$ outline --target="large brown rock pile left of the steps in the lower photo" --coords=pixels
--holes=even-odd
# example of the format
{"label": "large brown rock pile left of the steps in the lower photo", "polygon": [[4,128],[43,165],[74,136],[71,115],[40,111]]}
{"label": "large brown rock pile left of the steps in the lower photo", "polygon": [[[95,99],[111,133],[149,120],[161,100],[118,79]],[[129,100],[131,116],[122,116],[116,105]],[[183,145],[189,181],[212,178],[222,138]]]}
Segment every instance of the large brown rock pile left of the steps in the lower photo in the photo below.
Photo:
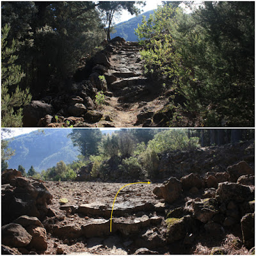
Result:
{"label": "large brown rock pile left of the steps in the lower photo", "polygon": [[46,217],[47,204],[51,203],[49,189],[38,180],[22,177],[17,170],[6,170],[1,178],[2,253],[47,250],[47,233],[40,220]]}

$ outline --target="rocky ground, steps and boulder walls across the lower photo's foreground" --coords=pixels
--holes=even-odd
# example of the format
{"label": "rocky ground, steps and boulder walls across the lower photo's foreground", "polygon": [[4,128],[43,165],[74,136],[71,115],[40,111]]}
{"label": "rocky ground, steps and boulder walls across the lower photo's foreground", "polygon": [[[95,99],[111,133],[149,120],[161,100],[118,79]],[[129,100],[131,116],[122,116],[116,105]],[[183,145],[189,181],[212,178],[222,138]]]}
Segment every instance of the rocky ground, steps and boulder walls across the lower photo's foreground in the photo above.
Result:
{"label": "rocky ground, steps and boulder walls across the lower photo's foreground", "polygon": [[129,182],[43,182],[6,170],[2,253],[254,253],[254,144],[237,145],[239,154],[221,172],[125,186],[116,198],[112,232],[113,199]]}

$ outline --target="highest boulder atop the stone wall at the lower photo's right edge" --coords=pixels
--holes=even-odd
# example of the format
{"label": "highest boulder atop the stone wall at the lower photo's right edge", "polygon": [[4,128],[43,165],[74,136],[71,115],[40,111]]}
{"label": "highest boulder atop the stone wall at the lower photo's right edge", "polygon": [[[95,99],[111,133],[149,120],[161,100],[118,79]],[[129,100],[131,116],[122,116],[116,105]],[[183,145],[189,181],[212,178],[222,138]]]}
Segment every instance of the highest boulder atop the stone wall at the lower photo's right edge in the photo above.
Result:
{"label": "highest boulder atop the stone wall at the lower photo's right edge", "polygon": [[252,168],[245,161],[241,161],[232,166],[228,166],[227,171],[229,173],[230,182],[237,182],[237,179],[242,175],[246,175],[246,174],[254,175]]}

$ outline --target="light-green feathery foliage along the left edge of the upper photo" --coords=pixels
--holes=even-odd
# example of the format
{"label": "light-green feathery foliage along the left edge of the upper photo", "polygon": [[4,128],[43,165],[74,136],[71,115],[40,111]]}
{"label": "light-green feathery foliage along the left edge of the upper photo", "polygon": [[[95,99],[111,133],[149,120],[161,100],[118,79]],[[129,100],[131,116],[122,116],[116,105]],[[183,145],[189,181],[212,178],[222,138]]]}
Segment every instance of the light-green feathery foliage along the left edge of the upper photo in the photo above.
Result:
{"label": "light-green feathery foliage along the left edge of the upper photo", "polygon": [[2,127],[22,127],[22,106],[31,101],[29,90],[21,90],[19,83],[24,77],[21,66],[16,65],[18,56],[13,55],[16,51],[15,40],[7,47],[6,38],[10,31],[10,26],[2,28],[1,37],[1,126]]}

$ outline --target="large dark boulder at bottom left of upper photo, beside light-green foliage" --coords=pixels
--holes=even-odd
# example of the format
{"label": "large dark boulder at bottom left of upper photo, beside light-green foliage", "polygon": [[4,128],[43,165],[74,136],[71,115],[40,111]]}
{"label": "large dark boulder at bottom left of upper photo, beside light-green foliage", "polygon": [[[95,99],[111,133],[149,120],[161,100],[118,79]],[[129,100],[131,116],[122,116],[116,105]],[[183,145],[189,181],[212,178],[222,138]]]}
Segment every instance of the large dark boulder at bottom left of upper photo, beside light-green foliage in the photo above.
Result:
{"label": "large dark boulder at bottom left of upper photo, beside light-green foliage", "polygon": [[23,126],[36,127],[40,118],[47,114],[52,114],[51,104],[41,102],[40,100],[32,100],[30,104],[23,108]]}

